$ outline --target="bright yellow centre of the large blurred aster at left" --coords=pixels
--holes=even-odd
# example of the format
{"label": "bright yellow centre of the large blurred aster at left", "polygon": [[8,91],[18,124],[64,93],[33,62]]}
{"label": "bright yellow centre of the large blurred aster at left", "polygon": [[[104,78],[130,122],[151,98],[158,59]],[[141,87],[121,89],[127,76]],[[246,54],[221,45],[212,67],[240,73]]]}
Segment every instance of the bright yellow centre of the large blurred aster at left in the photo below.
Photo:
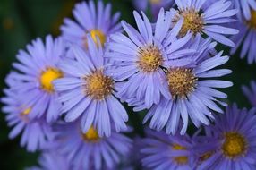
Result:
{"label": "bright yellow centre of the large blurred aster at left", "polygon": [[53,81],[56,79],[62,78],[63,72],[54,67],[47,68],[46,71],[41,72],[40,76],[40,85],[41,89],[44,89],[48,93],[55,91]]}

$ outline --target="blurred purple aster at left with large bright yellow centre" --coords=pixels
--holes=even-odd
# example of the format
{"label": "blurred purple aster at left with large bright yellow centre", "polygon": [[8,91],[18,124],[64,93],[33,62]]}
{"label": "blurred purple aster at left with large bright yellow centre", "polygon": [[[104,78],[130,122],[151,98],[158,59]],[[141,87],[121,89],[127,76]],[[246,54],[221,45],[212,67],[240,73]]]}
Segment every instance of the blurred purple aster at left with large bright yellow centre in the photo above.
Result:
{"label": "blurred purple aster at left with large bright yellow centre", "polygon": [[59,117],[60,103],[57,101],[53,81],[63,76],[56,64],[65,55],[65,46],[61,38],[47,36],[46,44],[38,38],[27,46],[28,52],[21,50],[17,55],[19,63],[13,67],[19,71],[13,75],[19,80],[13,89],[25,94],[24,105],[31,108],[30,115],[46,115],[47,122]]}

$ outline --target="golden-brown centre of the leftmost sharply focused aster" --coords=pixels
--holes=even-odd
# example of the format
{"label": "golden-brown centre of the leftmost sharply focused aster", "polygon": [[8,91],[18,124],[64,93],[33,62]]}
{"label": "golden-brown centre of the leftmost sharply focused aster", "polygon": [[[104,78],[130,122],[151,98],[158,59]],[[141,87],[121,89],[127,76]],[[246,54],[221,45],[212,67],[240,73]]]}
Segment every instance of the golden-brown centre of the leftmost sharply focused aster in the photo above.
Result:
{"label": "golden-brown centre of the leftmost sharply focused aster", "polygon": [[110,95],[113,91],[113,80],[111,77],[104,75],[102,70],[92,72],[85,78],[85,93],[91,98],[102,100]]}

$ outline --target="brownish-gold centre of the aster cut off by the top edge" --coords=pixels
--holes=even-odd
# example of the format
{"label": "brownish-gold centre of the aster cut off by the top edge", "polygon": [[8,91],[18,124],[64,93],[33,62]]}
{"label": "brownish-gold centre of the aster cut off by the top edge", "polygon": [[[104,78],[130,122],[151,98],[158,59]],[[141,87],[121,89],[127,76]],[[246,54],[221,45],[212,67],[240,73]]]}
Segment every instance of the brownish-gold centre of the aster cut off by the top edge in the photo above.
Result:
{"label": "brownish-gold centre of the aster cut off by the top edge", "polygon": [[[179,15],[183,17],[183,27],[180,30],[180,35],[184,36],[189,30],[193,35],[201,33],[204,25],[201,14],[195,9],[183,9],[179,12]],[[180,16],[175,16],[173,22],[176,23],[180,20]]]}

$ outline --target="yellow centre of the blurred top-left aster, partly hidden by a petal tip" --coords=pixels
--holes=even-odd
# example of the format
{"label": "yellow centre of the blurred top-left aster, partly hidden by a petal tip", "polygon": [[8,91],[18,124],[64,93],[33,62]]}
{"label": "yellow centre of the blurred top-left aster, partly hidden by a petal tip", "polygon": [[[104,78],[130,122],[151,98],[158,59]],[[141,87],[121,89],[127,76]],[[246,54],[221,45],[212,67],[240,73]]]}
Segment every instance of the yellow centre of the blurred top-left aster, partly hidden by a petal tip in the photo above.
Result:
{"label": "yellow centre of the blurred top-left aster, partly hidden by a petal tip", "polygon": [[[90,33],[90,36],[91,36],[92,40],[94,41],[94,43],[97,46],[99,46],[97,38],[99,39],[99,43],[100,43],[101,46],[103,46],[105,44],[106,36],[101,30],[90,30],[89,33]],[[84,46],[86,48],[88,48],[88,42],[87,42],[86,36],[83,38],[83,43],[84,43]]]}

